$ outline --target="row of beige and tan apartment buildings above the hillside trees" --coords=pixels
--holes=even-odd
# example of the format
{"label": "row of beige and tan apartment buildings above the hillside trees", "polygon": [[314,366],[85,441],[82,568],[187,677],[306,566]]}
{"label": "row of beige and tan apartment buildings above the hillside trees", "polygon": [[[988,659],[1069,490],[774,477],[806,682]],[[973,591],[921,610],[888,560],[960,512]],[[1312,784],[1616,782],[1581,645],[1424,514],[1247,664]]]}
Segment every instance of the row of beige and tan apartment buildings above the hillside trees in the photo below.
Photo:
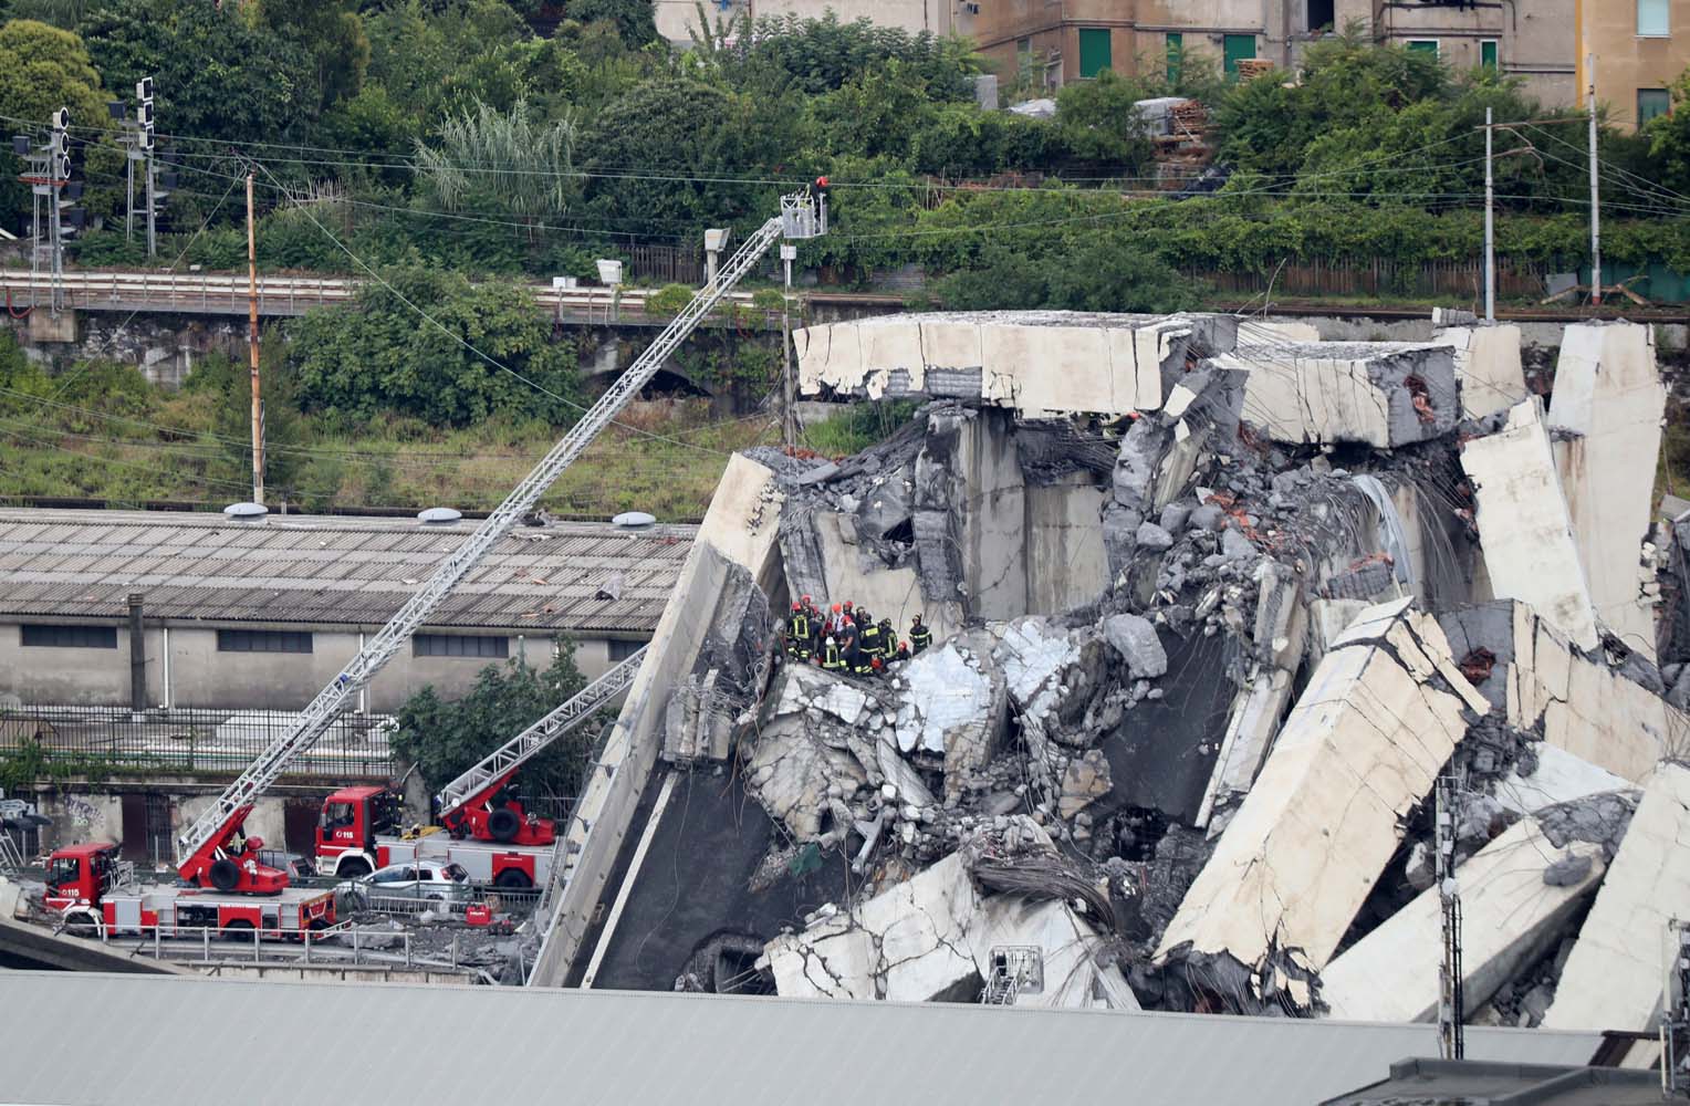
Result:
{"label": "row of beige and tan apartment buildings above the hillside trees", "polygon": [[[958,34],[999,78],[1026,73],[1056,88],[1102,69],[1169,71],[1207,56],[1225,73],[1246,59],[1293,68],[1313,41],[1360,24],[1381,42],[1436,54],[1455,69],[1492,66],[1546,105],[1582,103],[1587,57],[1597,95],[1621,125],[1668,110],[1690,64],[1690,0],[710,0],[710,19],[833,10],[845,22]],[[656,0],[676,42],[696,25],[695,0]]]}

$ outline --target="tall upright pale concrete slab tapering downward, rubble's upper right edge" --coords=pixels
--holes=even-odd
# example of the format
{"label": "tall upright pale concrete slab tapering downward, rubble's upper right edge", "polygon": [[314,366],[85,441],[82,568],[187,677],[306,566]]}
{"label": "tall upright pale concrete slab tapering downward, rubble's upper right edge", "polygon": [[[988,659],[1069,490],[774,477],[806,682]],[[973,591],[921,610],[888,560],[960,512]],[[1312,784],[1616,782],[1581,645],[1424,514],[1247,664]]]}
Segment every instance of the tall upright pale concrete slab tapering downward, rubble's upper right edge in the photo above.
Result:
{"label": "tall upright pale concrete slab tapering downward, rubble's upper right edge", "polygon": [[1653,602],[1641,546],[1655,504],[1666,387],[1655,331],[1638,323],[1577,323],[1562,335],[1548,424],[1573,538],[1597,617],[1655,660]]}

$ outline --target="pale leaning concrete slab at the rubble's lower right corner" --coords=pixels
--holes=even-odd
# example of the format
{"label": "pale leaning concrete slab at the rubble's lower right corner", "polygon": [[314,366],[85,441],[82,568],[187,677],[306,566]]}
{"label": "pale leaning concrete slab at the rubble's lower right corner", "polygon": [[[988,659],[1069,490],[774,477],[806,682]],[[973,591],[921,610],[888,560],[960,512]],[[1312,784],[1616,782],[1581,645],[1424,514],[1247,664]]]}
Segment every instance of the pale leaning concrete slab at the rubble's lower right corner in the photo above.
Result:
{"label": "pale leaning concrete slab at the rubble's lower right corner", "polygon": [[1663,763],[1567,957],[1551,1030],[1648,1032],[1661,1011],[1668,930],[1690,917],[1690,769]]}

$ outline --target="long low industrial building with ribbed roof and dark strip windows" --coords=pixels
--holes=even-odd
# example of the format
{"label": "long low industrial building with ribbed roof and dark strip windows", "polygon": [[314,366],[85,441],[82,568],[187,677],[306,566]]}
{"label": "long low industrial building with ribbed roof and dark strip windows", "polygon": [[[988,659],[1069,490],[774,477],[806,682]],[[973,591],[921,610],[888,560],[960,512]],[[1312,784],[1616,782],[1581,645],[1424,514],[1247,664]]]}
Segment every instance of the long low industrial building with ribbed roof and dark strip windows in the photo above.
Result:
{"label": "long low industrial building with ribbed roof and dark strip windows", "polygon": [[[0,695],[22,705],[297,710],[473,523],[0,511]],[[390,714],[576,641],[593,678],[651,638],[691,526],[522,526],[360,692]],[[130,597],[142,626],[132,654]],[[139,663],[132,663],[137,661]]]}

